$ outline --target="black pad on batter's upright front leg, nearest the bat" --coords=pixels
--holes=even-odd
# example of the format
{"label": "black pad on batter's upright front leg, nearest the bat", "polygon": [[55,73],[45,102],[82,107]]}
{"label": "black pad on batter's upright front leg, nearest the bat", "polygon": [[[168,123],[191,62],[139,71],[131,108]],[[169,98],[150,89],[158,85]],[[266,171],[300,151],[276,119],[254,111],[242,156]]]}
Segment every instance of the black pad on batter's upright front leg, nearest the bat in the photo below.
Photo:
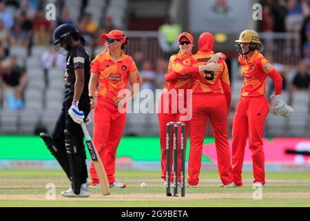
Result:
{"label": "black pad on batter's upright front leg, nearest the bat", "polygon": [[82,173],[83,167],[85,167],[85,162],[79,153],[79,144],[76,141],[76,138],[68,130],[64,131],[65,133],[65,149],[67,151],[68,160],[70,164],[70,173],[71,173],[71,183],[72,190],[75,194],[80,193],[81,184],[82,184]]}

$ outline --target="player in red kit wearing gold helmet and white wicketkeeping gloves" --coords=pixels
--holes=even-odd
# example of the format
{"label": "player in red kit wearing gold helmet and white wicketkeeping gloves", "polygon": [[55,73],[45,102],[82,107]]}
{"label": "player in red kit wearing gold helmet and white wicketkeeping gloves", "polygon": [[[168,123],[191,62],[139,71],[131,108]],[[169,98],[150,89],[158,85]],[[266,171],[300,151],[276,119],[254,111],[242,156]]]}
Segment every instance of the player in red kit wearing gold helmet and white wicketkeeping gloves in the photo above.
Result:
{"label": "player in red kit wearing gold helmet and white wicketkeeping gloves", "polygon": [[240,90],[240,99],[236,107],[232,129],[232,174],[236,186],[242,186],[242,164],[245,155],[245,143],[249,135],[254,173],[254,188],[265,184],[265,155],[262,148],[264,124],[269,112],[269,103],[265,96],[267,76],[274,83],[275,94],[271,95],[273,109],[271,113],[291,117],[293,109],[281,99],[282,77],[260,53],[262,44],[254,30],[244,30],[236,42],[239,43],[238,61],[244,77]]}

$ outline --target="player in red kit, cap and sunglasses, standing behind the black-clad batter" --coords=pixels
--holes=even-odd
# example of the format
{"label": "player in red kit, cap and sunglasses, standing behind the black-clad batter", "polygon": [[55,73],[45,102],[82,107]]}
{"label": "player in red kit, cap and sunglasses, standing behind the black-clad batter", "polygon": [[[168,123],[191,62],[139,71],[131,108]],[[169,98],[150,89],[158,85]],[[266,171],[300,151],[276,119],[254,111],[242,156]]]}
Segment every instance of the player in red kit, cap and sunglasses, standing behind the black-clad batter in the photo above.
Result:
{"label": "player in red kit, cap and sunglasses, standing behind the black-clad batter", "polygon": [[[127,37],[121,30],[112,30],[102,35],[107,41],[107,52],[97,55],[90,65],[90,99],[94,108],[94,146],[105,166],[110,188],[125,188],[126,185],[115,180],[116,149],[125,127],[126,113],[120,112],[126,97],[118,97],[118,92],[127,88],[134,95],[134,84],[140,84],[141,75],[131,56],[125,55],[123,48]],[[94,93],[99,81],[99,88],[94,104]],[[93,164],[90,165],[92,188],[98,188],[99,180]]]}

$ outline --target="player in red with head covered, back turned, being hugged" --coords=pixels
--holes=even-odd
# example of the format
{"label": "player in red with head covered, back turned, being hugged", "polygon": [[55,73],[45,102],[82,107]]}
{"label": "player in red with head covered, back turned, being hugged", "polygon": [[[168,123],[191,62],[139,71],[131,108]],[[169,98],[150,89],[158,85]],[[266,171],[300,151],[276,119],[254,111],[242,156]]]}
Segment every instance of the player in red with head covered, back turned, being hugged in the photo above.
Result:
{"label": "player in red with head covered, back turned, being hugged", "polygon": [[[200,35],[198,39],[198,52],[193,55],[200,66],[209,61],[214,55],[214,36],[209,32]],[[227,115],[231,102],[229,74],[225,61],[218,60],[220,70],[200,72],[193,75],[193,117],[190,121],[190,151],[189,151],[189,178],[190,187],[196,187],[199,182],[201,158],[203,155],[203,140],[205,126],[209,118],[214,133],[216,152],[218,158],[218,171],[223,184],[220,187],[234,187],[231,176],[231,159],[227,137]]]}

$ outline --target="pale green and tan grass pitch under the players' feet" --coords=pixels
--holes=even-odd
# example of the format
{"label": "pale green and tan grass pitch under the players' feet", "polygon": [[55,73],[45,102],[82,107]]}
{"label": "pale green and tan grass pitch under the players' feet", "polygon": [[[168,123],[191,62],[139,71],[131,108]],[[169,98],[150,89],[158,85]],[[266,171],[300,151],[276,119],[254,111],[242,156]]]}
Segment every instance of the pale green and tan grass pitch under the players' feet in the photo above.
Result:
{"label": "pale green and tan grass pitch under the players' feet", "polygon": [[[218,173],[203,172],[197,189],[186,189],[185,198],[166,197],[159,171],[116,171],[125,189],[111,189],[103,197],[90,189],[90,198],[63,198],[68,189],[63,171],[0,170],[0,206],[310,206],[309,173],[267,173],[262,200],[254,200],[251,173],[244,173],[244,186],[220,189]],[[141,182],[147,188],[141,189]],[[56,200],[46,200],[46,184],[56,186]],[[179,189],[180,193],[180,189]]]}

